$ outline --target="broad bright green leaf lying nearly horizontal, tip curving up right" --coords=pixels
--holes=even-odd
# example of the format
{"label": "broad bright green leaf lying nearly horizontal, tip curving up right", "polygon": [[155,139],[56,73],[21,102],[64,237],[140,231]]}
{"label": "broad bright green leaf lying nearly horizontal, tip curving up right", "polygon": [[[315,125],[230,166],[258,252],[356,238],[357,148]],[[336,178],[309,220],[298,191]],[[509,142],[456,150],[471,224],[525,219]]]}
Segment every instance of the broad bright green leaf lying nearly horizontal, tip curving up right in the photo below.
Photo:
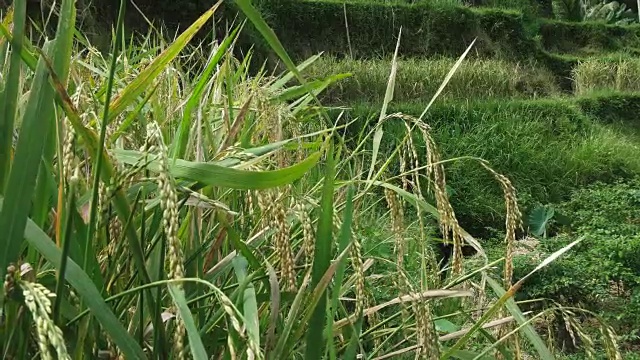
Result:
{"label": "broad bright green leaf lying nearly horizontal, tip curving up right", "polygon": [[[133,150],[114,150],[113,154],[119,162],[129,165],[138,164],[144,158],[141,152]],[[197,181],[208,186],[230,189],[268,189],[300,179],[316,165],[319,159],[320,153],[314,153],[298,164],[270,171],[238,170],[212,163],[176,159],[169,164],[169,172],[178,179]],[[159,161],[157,159],[148,161],[147,169],[159,171]]]}

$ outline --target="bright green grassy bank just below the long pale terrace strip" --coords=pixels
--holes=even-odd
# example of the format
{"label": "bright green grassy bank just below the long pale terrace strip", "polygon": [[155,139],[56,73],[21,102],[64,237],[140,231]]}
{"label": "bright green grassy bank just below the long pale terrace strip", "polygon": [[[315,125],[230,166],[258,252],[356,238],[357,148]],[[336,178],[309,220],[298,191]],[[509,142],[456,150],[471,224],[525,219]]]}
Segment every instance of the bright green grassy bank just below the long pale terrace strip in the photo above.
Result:
{"label": "bright green grassy bank just below the long pale terrace strip", "polygon": [[[640,104],[635,98],[627,100]],[[620,101],[618,97],[594,97],[575,104],[558,100],[442,103],[429,110],[425,121],[433,127],[445,158],[485,159],[509,174],[522,205],[528,207],[560,201],[593,181],[640,172],[640,157],[636,156],[640,137],[602,125],[615,116],[610,114],[616,106],[628,108]],[[391,106],[388,112],[417,117],[422,110],[420,105],[407,104]],[[344,111],[343,119],[367,119],[376,112],[375,106],[359,105]],[[364,122],[356,123],[354,129],[359,131],[362,126]],[[389,123],[387,127],[402,139],[403,126]],[[416,144],[418,157],[425,156],[420,140]],[[395,146],[389,141],[382,148],[390,153]],[[491,175],[473,161],[451,162],[446,167],[452,203],[465,228],[476,234],[487,227],[501,228],[502,190]]]}

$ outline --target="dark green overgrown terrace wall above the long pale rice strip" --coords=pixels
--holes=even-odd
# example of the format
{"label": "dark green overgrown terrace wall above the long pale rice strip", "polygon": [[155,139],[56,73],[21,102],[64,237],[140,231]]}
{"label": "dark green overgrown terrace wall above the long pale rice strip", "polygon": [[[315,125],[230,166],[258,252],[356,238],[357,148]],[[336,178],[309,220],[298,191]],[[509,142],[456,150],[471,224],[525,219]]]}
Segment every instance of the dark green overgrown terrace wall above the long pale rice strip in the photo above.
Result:
{"label": "dark green overgrown terrace wall above the long pale rice strip", "polygon": [[[414,5],[283,0],[264,5],[270,25],[297,59],[324,51],[356,58],[393,53],[459,56],[474,38],[474,54],[526,57],[535,48],[524,15],[430,3]],[[347,23],[345,24],[345,11]],[[347,34],[349,40],[347,40]]]}

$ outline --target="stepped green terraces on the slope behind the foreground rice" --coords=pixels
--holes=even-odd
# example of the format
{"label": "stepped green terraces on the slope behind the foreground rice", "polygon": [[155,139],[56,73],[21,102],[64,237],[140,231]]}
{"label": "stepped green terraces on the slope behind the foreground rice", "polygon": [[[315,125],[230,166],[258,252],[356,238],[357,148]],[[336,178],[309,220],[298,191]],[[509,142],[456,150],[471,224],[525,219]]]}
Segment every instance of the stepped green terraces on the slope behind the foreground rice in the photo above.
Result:
{"label": "stepped green terraces on the slope behind the foreground rice", "polygon": [[[379,116],[396,45],[387,113],[413,116],[469,48],[426,122],[444,156],[488,160],[513,180],[525,206],[640,172],[640,25],[558,20],[562,9],[536,1],[305,0],[260,9],[294,61],[322,54],[307,77],[350,75],[321,100],[359,119],[356,132]],[[388,126],[393,132],[397,124]],[[502,192],[490,175],[464,161],[448,170],[464,225],[501,226]]]}

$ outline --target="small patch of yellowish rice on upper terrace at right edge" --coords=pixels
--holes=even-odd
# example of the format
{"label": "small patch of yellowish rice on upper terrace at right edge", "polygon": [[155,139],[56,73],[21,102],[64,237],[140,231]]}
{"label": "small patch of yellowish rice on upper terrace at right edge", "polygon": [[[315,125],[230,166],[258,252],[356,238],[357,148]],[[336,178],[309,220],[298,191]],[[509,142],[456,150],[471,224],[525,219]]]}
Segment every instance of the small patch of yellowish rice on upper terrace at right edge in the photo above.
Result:
{"label": "small patch of yellowish rice on upper terrace at right edge", "polygon": [[594,92],[640,91],[640,61],[633,58],[600,60],[592,58],[581,61],[573,69],[576,95]]}

